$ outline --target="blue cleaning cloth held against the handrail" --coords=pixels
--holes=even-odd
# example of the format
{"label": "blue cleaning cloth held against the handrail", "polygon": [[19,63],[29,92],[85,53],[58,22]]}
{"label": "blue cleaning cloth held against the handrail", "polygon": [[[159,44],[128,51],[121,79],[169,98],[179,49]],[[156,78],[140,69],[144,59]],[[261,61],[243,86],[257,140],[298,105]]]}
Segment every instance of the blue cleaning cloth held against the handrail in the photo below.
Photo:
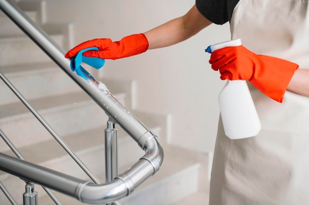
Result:
{"label": "blue cleaning cloth held against the handrail", "polygon": [[90,48],[85,48],[80,50],[76,56],[74,56],[71,59],[71,70],[72,71],[76,71],[77,75],[79,75],[80,77],[84,78],[85,80],[88,80],[89,77],[92,78],[94,80],[94,78],[92,77],[92,75],[87,72],[87,70],[85,70],[85,68],[82,68],[82,66],[80,66],[80,64],[82,62],[88,64],[89,66],[99,69],[102,68],[105,64],[105,60],[101,59],[101,58],[97,58],[97,57],[86,57],[83,56],[83,52],[85,51],[89,51],[89,50],[96,50],[98,51],[99,48],[98,47],[90,47]]}

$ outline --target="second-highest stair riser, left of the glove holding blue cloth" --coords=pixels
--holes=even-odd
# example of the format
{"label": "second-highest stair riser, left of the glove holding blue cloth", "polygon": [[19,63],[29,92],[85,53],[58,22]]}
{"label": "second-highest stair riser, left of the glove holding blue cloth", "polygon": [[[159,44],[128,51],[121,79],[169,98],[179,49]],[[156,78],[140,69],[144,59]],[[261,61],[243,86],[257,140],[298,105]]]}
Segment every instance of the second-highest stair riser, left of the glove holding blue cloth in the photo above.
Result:
{"label": "second-highest stair riser, left of the glove holding blue cloth", "polygon": [[[61,47],[63,35],[50,35]],[[50,58],[28,36],[0,38],[0,67],[51,62]]]}

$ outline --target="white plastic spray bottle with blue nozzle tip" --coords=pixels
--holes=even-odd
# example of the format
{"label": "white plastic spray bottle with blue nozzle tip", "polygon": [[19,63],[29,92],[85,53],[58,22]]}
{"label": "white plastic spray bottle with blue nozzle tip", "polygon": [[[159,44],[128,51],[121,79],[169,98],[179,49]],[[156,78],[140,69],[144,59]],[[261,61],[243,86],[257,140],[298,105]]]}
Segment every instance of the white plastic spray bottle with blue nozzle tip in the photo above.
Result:
{"label": "white plastic spray bottle with blue nozzle tip", "polygon": [[[239,46],[235,39],[209,46],[211,53],[227,46]],[[245,80],[227,80],[219,94],[219,106],[224,132],[231,139],[254,137],[261,130],[261,123]]]}

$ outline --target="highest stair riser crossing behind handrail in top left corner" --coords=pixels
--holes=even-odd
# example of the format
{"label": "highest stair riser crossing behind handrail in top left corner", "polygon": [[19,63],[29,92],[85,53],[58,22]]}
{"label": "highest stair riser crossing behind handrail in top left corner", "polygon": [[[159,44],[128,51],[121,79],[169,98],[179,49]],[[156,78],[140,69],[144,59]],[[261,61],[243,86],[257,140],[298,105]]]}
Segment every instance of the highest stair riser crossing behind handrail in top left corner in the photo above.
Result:
{"label": "highest stair riser crossing behind handrail in top left corner", "polygon": [[[25,11],[26,15],[29,16],[34,22],[37,22],[37,12],[36,11]],[[9,36],[20,36],[24,32],[16,26],[11,19],[9,19],[6,14],[0,11],[0,37],[9,37]]]}

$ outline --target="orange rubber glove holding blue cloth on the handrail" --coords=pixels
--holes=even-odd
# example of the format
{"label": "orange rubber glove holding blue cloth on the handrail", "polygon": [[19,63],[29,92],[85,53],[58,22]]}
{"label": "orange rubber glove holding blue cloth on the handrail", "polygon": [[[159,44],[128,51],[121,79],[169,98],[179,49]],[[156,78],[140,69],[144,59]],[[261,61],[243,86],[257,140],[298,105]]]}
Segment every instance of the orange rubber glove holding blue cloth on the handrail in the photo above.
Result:
{"label": "orange rubber glove holding blue cloth on the handrail", "polygon": [[148,40],[144,34],[129,35],[115,42],[110,38],[97,38],[80,43],[68,51],[65,57],[72,58],[84,48],[98,47],[99,51],[86,51],[83,55],[115,60],[143,53],[148,49],[148,46]]}

